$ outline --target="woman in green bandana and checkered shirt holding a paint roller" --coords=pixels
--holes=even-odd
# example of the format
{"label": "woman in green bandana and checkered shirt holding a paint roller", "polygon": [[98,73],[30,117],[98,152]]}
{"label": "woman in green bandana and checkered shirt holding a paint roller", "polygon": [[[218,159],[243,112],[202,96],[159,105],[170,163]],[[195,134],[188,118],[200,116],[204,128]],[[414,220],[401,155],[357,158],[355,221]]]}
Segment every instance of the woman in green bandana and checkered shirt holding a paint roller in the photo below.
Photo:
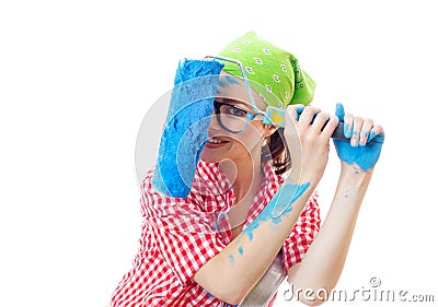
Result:
{"label": "woman in green bandana and checkered shirt holding a paint roller", "polygon": [[[344,116],[341,105],[336,116],[306,106],[313,81],[292,55],[253,32],[220,56],[240,60],[251,84],[261,86],[252,86],[249,99],[245,83],[232,78],[240,76],[239,69],[226,64],[187,198],[155,191],[152,170],[145,177],[140,248],[112,306],[237,305],[279,251],[295,290],[330,292],[341,275],[380,154],[382,127]],[[278,103],[287,110],[285,128],[264,125],[253,104],[265,110]],[[320,229],[314,191],[339,120],[351,139],[335,141],[341,175]],[[322,303],[315,295],[299,299]]]}

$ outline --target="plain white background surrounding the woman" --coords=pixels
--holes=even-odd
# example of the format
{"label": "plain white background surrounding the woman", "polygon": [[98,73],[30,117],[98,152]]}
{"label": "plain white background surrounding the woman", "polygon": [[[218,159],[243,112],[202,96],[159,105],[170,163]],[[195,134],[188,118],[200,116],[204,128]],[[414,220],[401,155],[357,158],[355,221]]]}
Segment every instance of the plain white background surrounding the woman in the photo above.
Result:
{"label": "plain white background surrounding the woman", "polygon": [[[342,102],[385,128],[337,288],[369,288],[377,276],[382,290],[437,300],[433,3],[2,1],[0,305],[108,302],[140,234],[142,118],[171,88],[178,59],[215,54],[250,29],[299,58],[318,83],[314,105],[333,111]],[[323,214],[333,154],[319,189]]]}

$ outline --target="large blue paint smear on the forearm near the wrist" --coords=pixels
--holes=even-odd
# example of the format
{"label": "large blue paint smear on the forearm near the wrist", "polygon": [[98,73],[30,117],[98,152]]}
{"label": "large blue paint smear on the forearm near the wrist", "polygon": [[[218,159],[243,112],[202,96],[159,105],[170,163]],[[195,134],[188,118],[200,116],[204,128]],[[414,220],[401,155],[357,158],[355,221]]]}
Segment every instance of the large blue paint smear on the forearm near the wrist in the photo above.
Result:
{"label": "large blue paint smear on the forearm near the wrist", "polygon": [[258,228],[263,222],[278,224],[283,216],[292,211],[292,203],[310,187],[310,182],[303,185],[286,184],[268,202],[262,213],[242,231],[242,236],[247,235],[250,241],[253,239],[253,232]]}

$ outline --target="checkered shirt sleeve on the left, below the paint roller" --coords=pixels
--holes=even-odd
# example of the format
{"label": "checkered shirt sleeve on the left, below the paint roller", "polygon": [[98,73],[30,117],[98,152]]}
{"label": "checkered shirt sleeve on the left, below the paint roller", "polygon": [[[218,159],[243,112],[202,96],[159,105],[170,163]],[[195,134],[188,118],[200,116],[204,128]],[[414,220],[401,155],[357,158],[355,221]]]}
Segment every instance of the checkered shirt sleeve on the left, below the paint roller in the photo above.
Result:
{"label": "checkered shirt sleeve on the left, below the paint roller", "polygon": [[208,197],[191,192],[186,199],[170,198],[152,188],[146,177],[140,199],[148,232],[146,245],[153,245],[181,286],[224,247],[215,228],[216,216],[204,210]]}

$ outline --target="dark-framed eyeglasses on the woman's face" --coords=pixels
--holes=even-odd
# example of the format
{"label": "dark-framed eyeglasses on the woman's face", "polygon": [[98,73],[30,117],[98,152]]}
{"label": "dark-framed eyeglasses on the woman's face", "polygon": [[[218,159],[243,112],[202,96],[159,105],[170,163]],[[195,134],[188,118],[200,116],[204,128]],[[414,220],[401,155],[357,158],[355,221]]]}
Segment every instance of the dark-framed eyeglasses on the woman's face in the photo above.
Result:
{"label": "dark-framed eyeglasses on the woman's face", "polygon": [[[224,130],[231,133],[240,134],[246,130],[247,125],[257,115],[229,103],[214,102],[217,120]],[[262,115],[263,116],[263,115]]]}

